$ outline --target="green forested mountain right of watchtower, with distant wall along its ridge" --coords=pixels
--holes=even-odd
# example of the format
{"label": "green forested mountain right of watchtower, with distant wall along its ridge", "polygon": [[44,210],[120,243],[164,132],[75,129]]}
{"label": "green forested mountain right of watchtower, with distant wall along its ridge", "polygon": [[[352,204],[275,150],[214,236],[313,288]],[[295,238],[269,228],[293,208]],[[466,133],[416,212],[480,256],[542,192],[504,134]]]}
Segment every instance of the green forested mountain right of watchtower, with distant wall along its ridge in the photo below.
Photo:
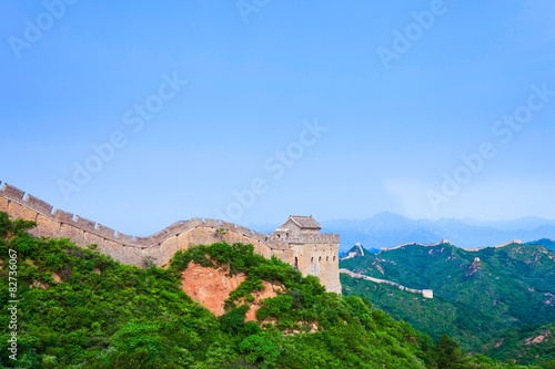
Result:
{"label": "green forested mountain right of watchtower, with distant wall along its ridge", "polygon": [[[355,248],[353,248],[353,252]],[[369,298],[396,319],[438,337],[448,334],[467,349],[506,329],[555,321],[555,253],[511,244],[477,252],[451,244],[407,245],[340,262],[341,268],[433,289],[434,298],[341,275],[346,296]]]}

